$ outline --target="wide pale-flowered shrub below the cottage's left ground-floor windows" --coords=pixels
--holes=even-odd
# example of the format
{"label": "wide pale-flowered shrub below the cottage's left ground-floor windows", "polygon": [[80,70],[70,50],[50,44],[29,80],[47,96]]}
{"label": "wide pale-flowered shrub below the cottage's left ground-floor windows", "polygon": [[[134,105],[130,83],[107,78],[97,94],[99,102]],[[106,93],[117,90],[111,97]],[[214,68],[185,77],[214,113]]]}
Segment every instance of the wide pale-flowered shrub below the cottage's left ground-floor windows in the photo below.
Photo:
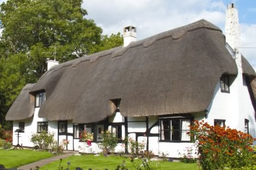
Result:
{"label": "wide pale-flowered shrub below the cottage's left ground-floor windows", "polygon": [[42,132],[42,133],[35,133],[32,134],[32,137],[30,141],[35,145],[38,146],[40,150],[47,150],[50,148],[50,146],[54,146],[54,134],[53,133],[47,133],[47,132]]}

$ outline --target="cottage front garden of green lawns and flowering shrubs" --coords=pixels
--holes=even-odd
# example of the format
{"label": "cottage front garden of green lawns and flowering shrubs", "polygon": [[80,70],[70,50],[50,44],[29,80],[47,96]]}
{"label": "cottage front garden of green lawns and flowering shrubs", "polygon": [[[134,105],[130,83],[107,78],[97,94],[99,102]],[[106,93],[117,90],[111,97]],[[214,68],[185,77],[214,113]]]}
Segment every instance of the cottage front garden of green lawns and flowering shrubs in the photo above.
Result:
{"label": "cottage front garden of green lawns and flowering shrubs", "polygon": [[[113,151],[118,138],[105,131],[100,143],[102,154],[86,154],[84,150],[84,153],[53,161],[37,169],[256,169],[256,148],[252,148],[255,139],[249,134],[195,121],[190,127],[190,136],[197,148],[196,159],[191,156],[190,149],[187,154],[182,155],[180,161],[173,161],[164,155],[156,158],[151,151],[144,150],[145,143],[138,143],[132,138],[125,141],[128,143],[129,154],[116,154]],[[0,164],[4,164],[6,168],[62,154],[69,143],[63,140],[61,145],[57,145],[53,140],[53,133],[35,133],[31,137],[34,149],[13,150],[12,136],[1,133],[1,137],[6,138],[0,139]],[[84,147],[91,147],[92,133],[81,132],[80,140],[84,142]]]}

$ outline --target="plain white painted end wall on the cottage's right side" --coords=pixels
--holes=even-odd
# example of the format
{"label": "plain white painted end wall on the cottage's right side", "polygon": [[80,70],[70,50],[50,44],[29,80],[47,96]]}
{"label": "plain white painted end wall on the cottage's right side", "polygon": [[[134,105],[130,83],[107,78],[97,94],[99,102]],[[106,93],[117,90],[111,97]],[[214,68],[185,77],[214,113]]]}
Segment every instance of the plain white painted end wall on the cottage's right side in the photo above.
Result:
{"label": "plain white painted end wall on the cottage's right side", "polygon": [[237,62],[238,75],[231,77],[230,93],[221,93],[220,83],[217,83],[213,99],[207,109],[206,121],[213,125],[214,119],[224,119],[226,126],[244,132],[244,119],[248,119],[249,133],[256,138],[255,110],[242,75],[241,54],[237,52],[234,57]]}

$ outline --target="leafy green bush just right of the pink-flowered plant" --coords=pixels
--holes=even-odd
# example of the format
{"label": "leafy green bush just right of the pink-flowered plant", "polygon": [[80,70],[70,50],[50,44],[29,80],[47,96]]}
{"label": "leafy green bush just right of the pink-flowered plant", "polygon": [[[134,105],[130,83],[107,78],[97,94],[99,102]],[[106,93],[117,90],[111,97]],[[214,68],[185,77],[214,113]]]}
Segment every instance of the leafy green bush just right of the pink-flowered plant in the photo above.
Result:
{"label": "leafy green bush just right of the pink-flowered plant", "polygon": [[[110,131],[105,131],[102,136],[102,143],[100,143],[100,148],[103,152],[115,151],[115,147],[118,145],[118,138],[114,136]],[[106,153],[107,154],[107,153]]]}

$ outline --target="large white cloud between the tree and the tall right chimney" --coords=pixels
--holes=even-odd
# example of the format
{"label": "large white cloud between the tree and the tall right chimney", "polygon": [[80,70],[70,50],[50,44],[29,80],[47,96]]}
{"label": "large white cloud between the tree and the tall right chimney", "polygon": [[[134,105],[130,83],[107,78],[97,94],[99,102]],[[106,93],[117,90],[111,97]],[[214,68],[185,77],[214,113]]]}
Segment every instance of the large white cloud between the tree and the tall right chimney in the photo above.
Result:
{"label": "large white cloud between the tree and the tall right chimney", "polygon": [[199,19],[223,27],[224,6],[221,1],[212,0],[85,0],[83,4],[89,13],[87,18],[94,19],[105,34],[122,32],[123,27],[132,24],[137,27],[138,39]]}

